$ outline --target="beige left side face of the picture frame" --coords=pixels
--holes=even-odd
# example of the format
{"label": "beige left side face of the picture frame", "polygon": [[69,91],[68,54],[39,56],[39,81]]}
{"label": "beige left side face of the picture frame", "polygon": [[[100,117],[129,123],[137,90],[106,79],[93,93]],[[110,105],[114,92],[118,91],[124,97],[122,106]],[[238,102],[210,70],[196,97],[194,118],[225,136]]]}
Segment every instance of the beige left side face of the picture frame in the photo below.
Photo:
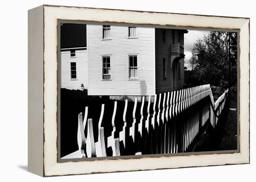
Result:
{"label": "beige left side face of the picture frame", "polygon": [[[44,6],[28,10],[28,120],[27,170],[44,176],[43,169],[43,37]],[[36,25],[36,26],[34,26]],[[37,45],[37,46],[34,46]],[[39,88],[39,89],[38,89]]]}

